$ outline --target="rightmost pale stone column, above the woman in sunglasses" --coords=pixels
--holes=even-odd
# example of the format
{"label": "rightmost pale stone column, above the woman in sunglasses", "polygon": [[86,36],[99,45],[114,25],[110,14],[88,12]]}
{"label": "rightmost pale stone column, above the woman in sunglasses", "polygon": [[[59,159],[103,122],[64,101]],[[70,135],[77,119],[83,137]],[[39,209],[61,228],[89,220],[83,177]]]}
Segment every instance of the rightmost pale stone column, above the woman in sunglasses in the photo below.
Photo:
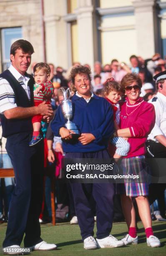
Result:
{"label": "rightmost pale stone column, above the woman in sunglasses", "polygon": [[151,57],[158,50],[156,36],[157,12],[156,0],[133,0],[136,33],[138,44],[138,55],[145,59]]}

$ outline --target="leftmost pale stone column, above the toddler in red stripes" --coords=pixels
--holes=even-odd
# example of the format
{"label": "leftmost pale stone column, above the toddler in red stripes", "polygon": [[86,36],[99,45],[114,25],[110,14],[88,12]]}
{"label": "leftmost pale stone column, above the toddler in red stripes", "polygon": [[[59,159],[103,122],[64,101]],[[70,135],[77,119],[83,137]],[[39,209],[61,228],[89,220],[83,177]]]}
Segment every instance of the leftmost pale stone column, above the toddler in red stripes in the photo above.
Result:
{"label": "leftmost pale stone column, above the toddler in red stripes", "polygon": [[44,0],[46,60],[55,66],[68,67],[66,0]]}

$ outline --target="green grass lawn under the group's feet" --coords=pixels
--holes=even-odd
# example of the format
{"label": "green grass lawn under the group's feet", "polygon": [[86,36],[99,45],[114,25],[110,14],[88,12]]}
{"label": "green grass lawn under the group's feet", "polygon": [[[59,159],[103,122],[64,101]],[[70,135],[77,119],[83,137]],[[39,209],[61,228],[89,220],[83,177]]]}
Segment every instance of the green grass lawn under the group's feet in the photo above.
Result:
{"label": "green grass lawn under the group's feet", "polygon": [[[0,225],[0,246],[5,236],[6,223]],[[34,256],[52,256],[52,255],[110,255],[110,256],[166,256],[166,223],[153,221],[154,235],[161,241],[160,248],[151,248],[146,244],[146,237],[141,222],[138,222],[138,245],[129,245],[120,248],[102,248],[97,250],[83,249],[83,243],[80,237],[78,225],[62,223],[52,226],[51,224],[41,225],[41,237],[49,243],[56,243],[56,251],[33,251]],[[126,223],[113,223],[111,234],[118,240],[126,234]],[[96,232],[96,225],[95,230]],[[21,245],[23,246],[23,244]]]}

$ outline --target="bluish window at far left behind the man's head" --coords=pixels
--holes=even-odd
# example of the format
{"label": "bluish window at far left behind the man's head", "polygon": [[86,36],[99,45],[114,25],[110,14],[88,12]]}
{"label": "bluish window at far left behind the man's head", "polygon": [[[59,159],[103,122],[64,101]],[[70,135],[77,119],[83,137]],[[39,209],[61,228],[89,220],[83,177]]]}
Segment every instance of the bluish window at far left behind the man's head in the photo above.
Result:
{"label": "bluish window at far left behind the man's head", "polygon": [[2,70],[10,66],[10,46],[18,39],[22,38],[22,28],[2,28],[1,29],[1,59]]}

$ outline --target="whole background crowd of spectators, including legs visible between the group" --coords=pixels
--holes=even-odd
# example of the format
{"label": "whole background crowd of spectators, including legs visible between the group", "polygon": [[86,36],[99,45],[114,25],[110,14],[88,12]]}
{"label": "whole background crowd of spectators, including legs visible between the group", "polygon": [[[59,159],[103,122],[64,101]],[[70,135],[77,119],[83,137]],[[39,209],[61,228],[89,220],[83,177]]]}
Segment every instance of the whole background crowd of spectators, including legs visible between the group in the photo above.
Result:
{"label": "whole background crowd of spectators, including legs visible between the group", "polygon": [[[141,97],[144,98],[145,101],[150,100],[156,95],[156,87],[155,82],[153,81],[153,76],[166,70],[166,60],[161,58],[161,55],[156,53],[150,59],[143,59],[141,56],[131,55],[129,58],[130,65],[120,62],[117,59],[112,59],[110,63],[102,64],[99,61],[94,63],[94,67],[90,67],[89,64],[85,64],[84,66],[88,67],[92,70],[91,74],[91,90],[94,94],[103,97],[103,84],[106,82],[108,78],[113,77],[116,82],[121,82],[123,77],[127,73],[137,73],[142,81],[141,88]],[[35,66],[36,62],[32,64],[32,69]],[[81,63],[82,64],[82,63]],[[63,100],[63,96],[60,92],[60,87],[70,88],[72,95],[75,93],[75,87],[70,81],[70,71],[73,67],[80,65],[79,62],[73,63],[73,66],[68,70],[64,70],[63,67],[55,67],[52,63],[49,64],[51,73],[49,80],[53,83],[54,92],[52,97],[51,105],[53,110],[58,108],[58,105]],[[32,73],[33,74],[33,73]],[[47,125],[46,125],[47,126]],[[48,130],[48,133],[47,133]],[[53,137],[52,132],[49,127],[45,127],[43,124],[43,133],[45,134],[45,159],[47,159],[45,164],[45,169],[52,169],[55,171],[56,177],[56,202],[57,202],[57,211],[56,218],[57,222],[63,222],[67,220],[71,220],[71,224],[78,223],[77,218],[75,216],[75,209],[73,206],[73,198],[72,193],[70,191],[70,187],[62,184],[60,182],[60,159],[63,158],[64,153],[61,146],[61,140],[58,137]],[[50,144],[51,143],[51,144]],[[50,147],[51,145],[51,147]],[[51,149],[51,150],[50,150]],[[50,207],[50,180],[49,175],[46,171],[46,179],[45,179],[45,197],[43,198],[43,212],[40,215],[40,222],[45,223],[52,220],[51,217],[51,207]],[[0,222],[4,222],[8,220],[8,207],[9,202],[5,203],[5,193],[8,192],[8,187],[5,189],[5,182],[3,179],[0,180]],[[10,197],[10,196],[8,196]],[[115,215],[114,220],[124,220],[123,213],[121,210],[121,205],[119,199],[116,198],[115,202]],[[68,203],[70,202],[70,203]],[[4,209],[2,209],[2,205]],[[44,206],[45,205],[45,206]],[[157,210],[157,209],[156,209]],[[5,218],[4,218],[5,216]],[[163,216],[165,217],[165,216]]]}

